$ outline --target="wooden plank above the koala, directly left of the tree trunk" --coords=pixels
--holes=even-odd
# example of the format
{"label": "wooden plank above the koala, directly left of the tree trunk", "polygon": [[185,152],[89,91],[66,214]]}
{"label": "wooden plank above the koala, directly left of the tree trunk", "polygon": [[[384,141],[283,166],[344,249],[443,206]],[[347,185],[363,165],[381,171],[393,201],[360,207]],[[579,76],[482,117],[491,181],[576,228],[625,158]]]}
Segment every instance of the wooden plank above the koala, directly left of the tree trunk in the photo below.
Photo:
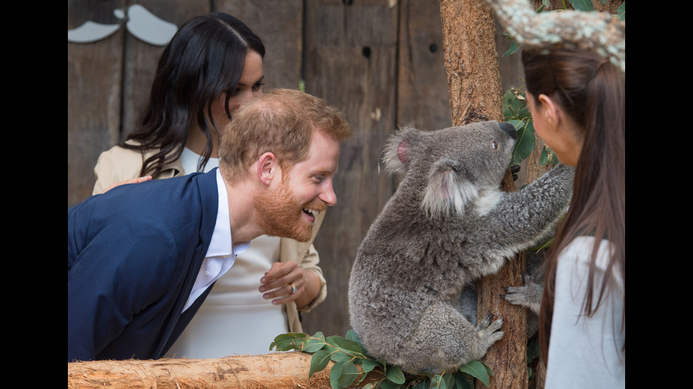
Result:
{"label": "wooden plank above the koala, directly left of the tree trunk", "polygon": [[438,0],[400,2],[397,124],[423,130],[452,126]]}

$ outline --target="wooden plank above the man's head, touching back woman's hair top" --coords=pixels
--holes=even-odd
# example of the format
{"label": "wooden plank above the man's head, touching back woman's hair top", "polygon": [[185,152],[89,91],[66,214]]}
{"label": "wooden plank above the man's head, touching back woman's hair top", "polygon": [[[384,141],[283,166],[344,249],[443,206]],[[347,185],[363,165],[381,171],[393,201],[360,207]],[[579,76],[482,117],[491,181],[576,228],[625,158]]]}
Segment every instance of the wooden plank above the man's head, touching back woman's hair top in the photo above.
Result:
{"label": "wooden plank above the man's head, touching back woman's hair top", "polygon": [[303,60],[303,0],[219,0],[218,11],[248,25],[260,37],[265,88],[298,89]]}

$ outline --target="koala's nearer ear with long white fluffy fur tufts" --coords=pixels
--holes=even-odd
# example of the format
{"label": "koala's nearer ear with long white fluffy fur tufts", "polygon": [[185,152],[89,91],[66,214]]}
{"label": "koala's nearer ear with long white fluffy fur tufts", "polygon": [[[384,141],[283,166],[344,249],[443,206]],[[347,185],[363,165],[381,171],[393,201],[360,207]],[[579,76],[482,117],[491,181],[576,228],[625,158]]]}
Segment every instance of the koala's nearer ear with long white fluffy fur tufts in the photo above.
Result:
{"label": "koala's nearer ear with long white fluffy fur tufts", "polygon": [[479,197],[477,187],[450,162],[442,160],[436,163],[429,174],[421,208],[431,217],[462,216],[465,206]]}

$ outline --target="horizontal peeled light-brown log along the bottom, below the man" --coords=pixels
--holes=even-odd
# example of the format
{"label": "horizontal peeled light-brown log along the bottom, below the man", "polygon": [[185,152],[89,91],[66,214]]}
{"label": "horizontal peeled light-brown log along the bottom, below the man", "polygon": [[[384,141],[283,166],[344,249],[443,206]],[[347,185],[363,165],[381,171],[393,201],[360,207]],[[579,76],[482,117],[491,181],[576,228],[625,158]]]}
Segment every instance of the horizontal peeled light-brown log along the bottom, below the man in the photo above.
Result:
{"label": "horizontal peeled light-brown log along the bottom, below the man", "polygon": [[[87,361],[67,364],[68,388],[330,388],[330,362],[308,379],[310,354],[285,352],[219,359]],[[372,379],[371,379],[372,378]],[[379,381],[371,372],[363,385]]]}

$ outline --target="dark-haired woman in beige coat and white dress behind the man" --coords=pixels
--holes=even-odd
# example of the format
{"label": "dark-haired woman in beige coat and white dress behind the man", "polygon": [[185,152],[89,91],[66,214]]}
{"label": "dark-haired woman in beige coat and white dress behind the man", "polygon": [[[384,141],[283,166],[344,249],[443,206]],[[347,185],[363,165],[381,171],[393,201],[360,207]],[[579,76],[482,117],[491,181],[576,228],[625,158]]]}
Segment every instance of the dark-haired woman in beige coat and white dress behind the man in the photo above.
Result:
{"label": "dark-haired woman in beige coat and white dress behind the man", "polygon": [[[263,57],[260,38],[233,16],[188,20],[161,55],[139,124],[100,155],[94,194],[148,176],[166,179],[218,167],[219,131],[241,104],[262,94]],[[312,309],[327,294],[313,239],[253,240],[216,281],[167,356],[264,354],[276,335],[302,332],[298,309]]]}

